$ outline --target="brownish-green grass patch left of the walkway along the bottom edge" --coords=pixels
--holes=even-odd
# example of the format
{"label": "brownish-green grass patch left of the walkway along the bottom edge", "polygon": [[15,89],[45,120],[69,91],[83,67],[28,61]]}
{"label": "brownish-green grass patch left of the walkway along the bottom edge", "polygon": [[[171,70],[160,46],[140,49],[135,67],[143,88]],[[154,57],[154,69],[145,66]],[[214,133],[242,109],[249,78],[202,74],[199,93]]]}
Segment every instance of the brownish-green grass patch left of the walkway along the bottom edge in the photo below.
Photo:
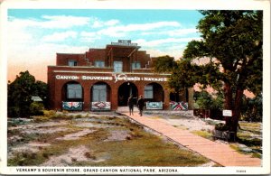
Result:
{"label": "brownish-green grass patch left of the walkway along the bottom edge", "polygon": [[208,159],[182,150],[174,144],[164,143],[159,137],[144,134],[124,142],[91,145],[97,153],[109,153],[105,162],[92,162],[92,166],[196,166]]}

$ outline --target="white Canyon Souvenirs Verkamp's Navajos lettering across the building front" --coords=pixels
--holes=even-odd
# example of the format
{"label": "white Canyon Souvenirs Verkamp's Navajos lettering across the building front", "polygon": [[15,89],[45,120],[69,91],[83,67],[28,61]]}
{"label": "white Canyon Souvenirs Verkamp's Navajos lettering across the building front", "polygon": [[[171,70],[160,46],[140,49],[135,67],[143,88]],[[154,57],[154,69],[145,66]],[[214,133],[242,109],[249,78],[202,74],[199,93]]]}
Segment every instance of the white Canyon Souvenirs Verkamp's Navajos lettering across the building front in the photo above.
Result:
{"label": "white Canyon Souvenirs Verkamp's Navajos lettering across the building front", "polygon": [[167,81],[167,78],[153,78],[153,77],[128,77],[126,74],[113,74],[112,76],[68,76],[68,75],[56,75],[56,79],[68,79],[68,80],[114,80],[115,83],[118,80],[124,80],[124,81],[139,81],[139,80],[145,80],[145,81],[159,81],[164,82]]}

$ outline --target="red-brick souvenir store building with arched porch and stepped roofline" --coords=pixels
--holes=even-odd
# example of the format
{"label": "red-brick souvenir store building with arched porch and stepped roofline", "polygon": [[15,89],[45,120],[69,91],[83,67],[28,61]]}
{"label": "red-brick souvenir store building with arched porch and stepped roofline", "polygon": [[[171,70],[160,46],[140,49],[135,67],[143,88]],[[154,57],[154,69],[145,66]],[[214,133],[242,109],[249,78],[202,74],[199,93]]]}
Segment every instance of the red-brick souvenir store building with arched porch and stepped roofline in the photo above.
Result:
{"label": "red-brick souvenir store building with arched porch and stepped roofline", "polygon": [[[152,70],[155,58],[130,40],[118,40],[105,49],[85,53],[57,53],[56,66],[48,66],[51,109],[117,110],[145,97],[147,109],[187,109],[192,105],[192,88],[179,102],[166,88],[169,74]],[[180,78],[182,79],[182,78]]]}

